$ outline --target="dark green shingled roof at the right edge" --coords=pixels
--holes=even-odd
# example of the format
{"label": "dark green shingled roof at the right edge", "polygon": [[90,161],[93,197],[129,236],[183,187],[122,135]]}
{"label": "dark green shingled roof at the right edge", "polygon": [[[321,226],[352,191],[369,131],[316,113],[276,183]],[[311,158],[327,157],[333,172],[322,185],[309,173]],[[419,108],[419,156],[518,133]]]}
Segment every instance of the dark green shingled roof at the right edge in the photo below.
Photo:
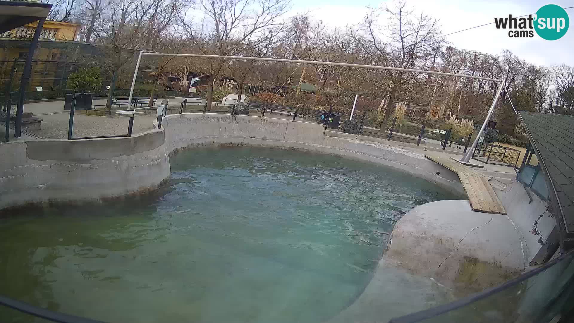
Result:
{"label": "dark green shingled roof at the right edge", "polygon": [[[538,160],[556,190],[567,232],[574,233],[574,116],[518,111]],[[549,187],[550,195],[554,190]]]}

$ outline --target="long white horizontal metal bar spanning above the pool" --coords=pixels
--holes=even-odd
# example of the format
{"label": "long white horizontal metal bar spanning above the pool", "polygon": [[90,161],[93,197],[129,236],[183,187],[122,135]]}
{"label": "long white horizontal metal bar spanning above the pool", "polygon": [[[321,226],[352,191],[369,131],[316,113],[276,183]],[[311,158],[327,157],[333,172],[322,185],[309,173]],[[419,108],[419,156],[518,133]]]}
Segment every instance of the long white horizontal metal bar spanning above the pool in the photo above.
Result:
{"label": "long white horizontal metal bar spanning above the pool", "polygon": [[223,58],[223,59],[282,61],[285,63],[302,63],[302,64],[317,64],[317,65],[330,65],[330,66],[373,68],[374,70],[390,70],[390,71],[402,71],[402,72],[413,72],[413,73],[425,73],[425,74],[435,74],[435,75],[445,75],[445,76],[457,76],[460,78],[490,80],[490,81],[494,81],[494,82],[503,82],[503,80],[482,78],[479,76],[464,75],[464,74],[453,74],[453,73],[423,71],[423,70],[410,70],[409,68],[398,68],[398,67],[387,67],[387,66],[376,66],[376,65],[336,63],[334,61],[314,61],[314,60],[298,60],[298,59],[278,59],[278,58],[267,58],[267,57],[244,57],[244,56],[223,56],[223,55],[203,55],[203,54],[142,53],[142,55],[149,55],[149,56],[188,56],[188,57],[211,57],[211,58]]}

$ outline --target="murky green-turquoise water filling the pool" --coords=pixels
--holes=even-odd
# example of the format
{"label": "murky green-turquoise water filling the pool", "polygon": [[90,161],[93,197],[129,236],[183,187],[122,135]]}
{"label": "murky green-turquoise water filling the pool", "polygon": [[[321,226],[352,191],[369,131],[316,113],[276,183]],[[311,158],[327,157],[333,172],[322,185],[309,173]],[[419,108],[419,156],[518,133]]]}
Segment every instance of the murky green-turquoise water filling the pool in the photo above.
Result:
{"label": "murky green-turquoise water filling the pool", "polygon": [[[152,194],[2,218],[0,294],[108,322],[329,321],[365,290],[403,214],[457,198],[330,155],[222,148],[171,160]],[[437,302],[405,273],[384,285],[393,315]],[[32,321],[5,308],[0,318]]]}

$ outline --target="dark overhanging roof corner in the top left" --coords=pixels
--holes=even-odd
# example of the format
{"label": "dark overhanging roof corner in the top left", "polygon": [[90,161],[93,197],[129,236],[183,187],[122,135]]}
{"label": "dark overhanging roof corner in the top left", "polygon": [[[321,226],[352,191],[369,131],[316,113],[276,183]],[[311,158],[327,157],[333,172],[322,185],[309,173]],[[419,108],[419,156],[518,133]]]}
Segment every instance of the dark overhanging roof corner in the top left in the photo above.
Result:
{"label": "dark overhanging roof corner in the top left", "polygon": [[51,7],[36,1],[0,1],[0,33],[45,18]]}

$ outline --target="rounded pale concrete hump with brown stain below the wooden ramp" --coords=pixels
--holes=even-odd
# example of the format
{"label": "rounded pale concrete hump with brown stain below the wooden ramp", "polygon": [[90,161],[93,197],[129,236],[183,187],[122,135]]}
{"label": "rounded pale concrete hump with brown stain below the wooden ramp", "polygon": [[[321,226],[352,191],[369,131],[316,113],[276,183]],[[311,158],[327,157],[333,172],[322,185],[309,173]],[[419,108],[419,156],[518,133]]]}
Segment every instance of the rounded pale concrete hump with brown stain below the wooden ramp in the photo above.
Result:
{"label": "rounded pale concrete hump with brown stain below the wooden ramp", "polygon": [[472,211],[468,201],[415,207],[395,224],[386,257],[418,276],[468,295],[524,269],[522,241],[511,221]]}

